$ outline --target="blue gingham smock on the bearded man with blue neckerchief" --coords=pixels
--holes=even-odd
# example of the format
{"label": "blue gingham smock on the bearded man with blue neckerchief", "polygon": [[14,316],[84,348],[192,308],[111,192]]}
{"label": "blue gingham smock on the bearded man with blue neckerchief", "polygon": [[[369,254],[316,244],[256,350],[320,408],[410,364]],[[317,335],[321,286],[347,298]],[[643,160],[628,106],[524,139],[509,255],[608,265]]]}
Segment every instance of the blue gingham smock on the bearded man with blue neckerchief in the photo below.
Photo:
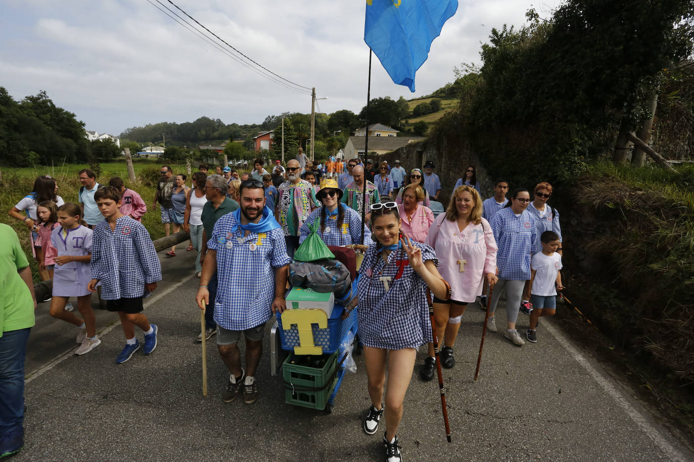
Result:
{"label": "blue gingham smock on the bearded man with blue neckerchief", "polygon": [[208,240],[208,248],[217,251],[214,321],[227,330],[246,330],[272,316],[274,269],[289,265],[291,258],[281,228],[244,237],[241,228],[232,233],[236,224],[232,213],[223,215]]}

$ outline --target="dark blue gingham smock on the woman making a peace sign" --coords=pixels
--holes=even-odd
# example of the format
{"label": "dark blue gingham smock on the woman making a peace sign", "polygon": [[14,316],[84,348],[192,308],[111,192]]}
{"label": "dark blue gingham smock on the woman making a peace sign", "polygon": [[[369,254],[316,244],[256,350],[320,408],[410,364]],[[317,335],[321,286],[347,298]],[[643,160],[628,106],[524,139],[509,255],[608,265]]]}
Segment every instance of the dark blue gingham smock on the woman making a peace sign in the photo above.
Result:
{"label": "dark blue gingham smock on the woman making a peace sign", "polygon": [[[439,264],[434,249],[421,242],[413,242],[413,245],[421,249],[422,260],[433,260],[436,265]],[[405,260],[402,270],[396,260]],[[379,281],[380,276],[391,277],[388,292]],[[364,345],[400,350],[418,348],[432,341],[427,285],[409,266],[404,249],[392,251],[386,265],[381,251],[375,245],[369,247],[359,271],[357,296],[357,333]]]}

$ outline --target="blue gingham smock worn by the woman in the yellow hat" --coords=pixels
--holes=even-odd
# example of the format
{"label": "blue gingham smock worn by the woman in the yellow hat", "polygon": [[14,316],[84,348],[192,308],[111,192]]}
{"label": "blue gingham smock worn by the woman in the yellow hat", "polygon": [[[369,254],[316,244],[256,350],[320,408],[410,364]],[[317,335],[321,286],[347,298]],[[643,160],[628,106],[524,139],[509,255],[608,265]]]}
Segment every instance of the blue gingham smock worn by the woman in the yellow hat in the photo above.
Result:
{"label": "blue gingham smock worn by the woman in the yellow hat", "polygon": [[[342,226],[337,228],[337,215],[332,215],[330,217],[325,217],[325,231],[321,233],[320,221],[321,221],[321,210],[323,206],[316,208],[316,210],[308,215],[308,218],[301,225],[299,232],[299,242],[304,242],[304,240],[311,233],[309,224],[314,224],[317,222],[318,235],[321,236],[325,245],[351,245],[359,244],[362,239],[362,217],[353,208],[338,202],[338,207],[344,209],[344,217],[342,219]],[[326,213],[327,215],[327,213]],[[373,240],[371,240],[371,230],[364,225],[364,245],[372,245]]]}

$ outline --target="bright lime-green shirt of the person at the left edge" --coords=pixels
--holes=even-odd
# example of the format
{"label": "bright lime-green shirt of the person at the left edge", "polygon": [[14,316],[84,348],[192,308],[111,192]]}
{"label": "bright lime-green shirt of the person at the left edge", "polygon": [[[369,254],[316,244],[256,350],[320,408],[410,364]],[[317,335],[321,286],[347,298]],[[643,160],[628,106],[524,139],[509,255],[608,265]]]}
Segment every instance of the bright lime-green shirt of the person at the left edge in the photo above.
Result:
{"label": "bright lime-green shirt of the person at the left edge", "polygon": [[2,332],[32,327],[34,321],[34,301],[26,283],[17,271],[28,267],[22,246],[15,230],[0,223],[0,337]]}

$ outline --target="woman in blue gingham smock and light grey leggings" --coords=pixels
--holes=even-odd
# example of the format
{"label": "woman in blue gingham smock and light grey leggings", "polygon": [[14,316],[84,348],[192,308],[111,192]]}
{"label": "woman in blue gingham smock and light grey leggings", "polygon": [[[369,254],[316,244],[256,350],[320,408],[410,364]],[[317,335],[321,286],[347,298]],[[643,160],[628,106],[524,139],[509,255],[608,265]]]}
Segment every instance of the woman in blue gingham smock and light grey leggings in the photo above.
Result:
{"label": "woman in blue gingham smock and light grey leggings", "polygon": [[530,279],[530,258],[536,240],[535,218],[526,210],[530,203],[530,193],[525,188],[514,191],[509,206],[503,208],[491,219],[491,229],[499,250],[496,265],[499,267],[499,282],[489,301],[489,319],[486,328],[496,332],[494,312],[503,289],[506,290],[507,329],[504,336],[521,346],[525,341],[516,330],[518,310],[521,308],[523,287]]}

